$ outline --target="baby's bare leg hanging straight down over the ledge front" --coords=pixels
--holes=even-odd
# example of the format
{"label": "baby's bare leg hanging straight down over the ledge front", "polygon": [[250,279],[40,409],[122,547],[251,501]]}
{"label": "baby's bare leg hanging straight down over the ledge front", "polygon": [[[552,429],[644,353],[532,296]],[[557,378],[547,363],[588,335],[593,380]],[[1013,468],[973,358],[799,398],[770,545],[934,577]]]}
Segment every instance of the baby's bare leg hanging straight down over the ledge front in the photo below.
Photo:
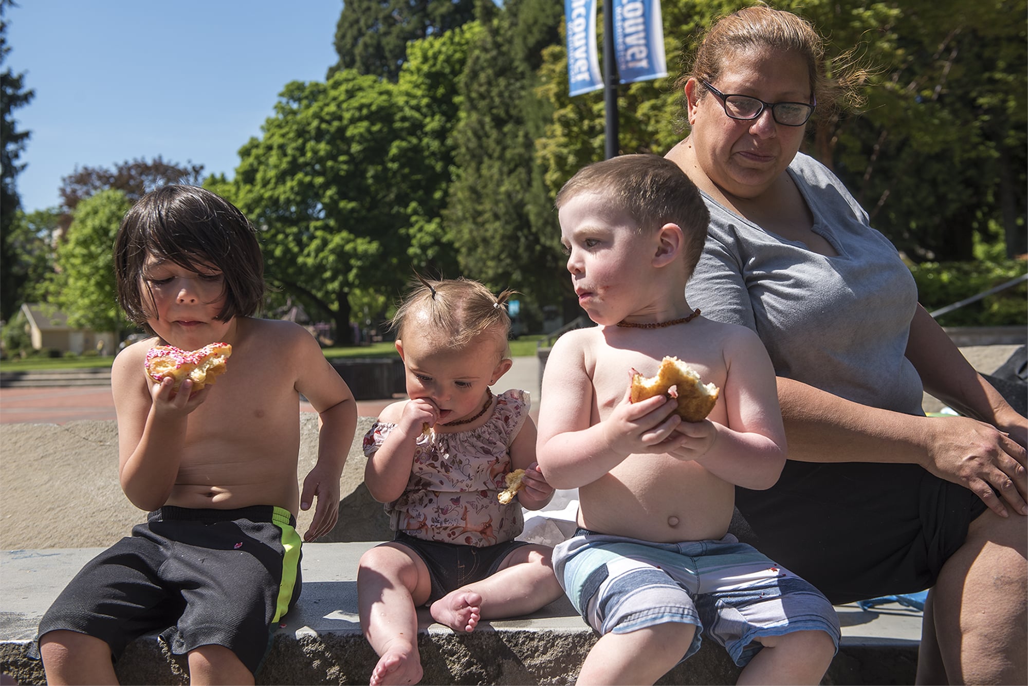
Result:
{"label": "baby's bare leg hanging straight down over the ledge front", "polygon": [[421,680],[415,608],[428,600],[430,590],[428,568],[403,545],[386,543],[361,557],[357,571],[361,628],[378,654],[372,686]]}

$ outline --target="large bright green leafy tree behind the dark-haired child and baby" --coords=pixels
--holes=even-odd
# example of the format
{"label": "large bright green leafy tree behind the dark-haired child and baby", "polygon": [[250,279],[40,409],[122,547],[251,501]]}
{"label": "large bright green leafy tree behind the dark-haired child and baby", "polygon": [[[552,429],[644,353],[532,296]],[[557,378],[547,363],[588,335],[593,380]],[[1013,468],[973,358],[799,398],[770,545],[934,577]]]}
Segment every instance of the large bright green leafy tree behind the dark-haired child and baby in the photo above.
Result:
{"label": "large bright green leafy tree behind the dark-haired child and baby", "polygon": [[355,306],[381,316],[412,269],[456,270],[440,215],[468,40],[413,41],[397,83],[354,70],[290,83],[240,151],[225,195],[260,228],[269,282],[331,318],[341,343]]}

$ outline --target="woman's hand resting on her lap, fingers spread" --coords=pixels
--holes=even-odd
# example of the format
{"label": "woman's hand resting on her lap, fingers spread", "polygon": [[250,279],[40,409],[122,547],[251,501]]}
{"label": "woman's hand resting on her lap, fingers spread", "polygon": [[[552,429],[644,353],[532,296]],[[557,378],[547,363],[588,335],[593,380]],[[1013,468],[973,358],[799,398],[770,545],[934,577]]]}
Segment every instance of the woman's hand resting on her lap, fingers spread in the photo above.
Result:
{"label": "woman's hand resting on her lap, fingers spread", "polygon": [[994,426],[967,417],[933,417],[927,426],[930,435],[924,467],[928,471],[970,489],[1000,517],[1009,516],[1007,506],[1028,514],[1024,446]]}

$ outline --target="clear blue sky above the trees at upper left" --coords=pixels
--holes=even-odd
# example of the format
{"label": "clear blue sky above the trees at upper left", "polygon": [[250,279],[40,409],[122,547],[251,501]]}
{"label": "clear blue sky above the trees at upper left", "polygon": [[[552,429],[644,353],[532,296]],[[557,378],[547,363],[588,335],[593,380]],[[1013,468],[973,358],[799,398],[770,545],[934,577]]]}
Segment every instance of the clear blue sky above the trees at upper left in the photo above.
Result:
{"label": "clear blue sky above the trees at upper left", "polygon": [[36,91],[14,111],[32,138],[17,192],[60,204],[75,167],[139,157],[229,178],[283,86],[321,81],[342,0],[17,0],[4,68]]}

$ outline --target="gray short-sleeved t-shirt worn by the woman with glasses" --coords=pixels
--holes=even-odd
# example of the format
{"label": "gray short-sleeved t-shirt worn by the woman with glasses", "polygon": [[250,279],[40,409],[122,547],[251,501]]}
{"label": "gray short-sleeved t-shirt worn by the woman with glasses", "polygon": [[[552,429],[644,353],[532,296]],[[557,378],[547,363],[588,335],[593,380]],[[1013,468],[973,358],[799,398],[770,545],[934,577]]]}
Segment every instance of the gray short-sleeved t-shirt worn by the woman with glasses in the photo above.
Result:
{"label": "gray short-sleeved t-shirt worn by the woman with glasses", "polygon": [[706,245],[689,304],[748,327],[778,376],[862,405],[923,414],[921,379],[905,356],[917,287],[895,246],[829,169],[798,153],[788,166],[837,257],[785,240],[708,195]]}

